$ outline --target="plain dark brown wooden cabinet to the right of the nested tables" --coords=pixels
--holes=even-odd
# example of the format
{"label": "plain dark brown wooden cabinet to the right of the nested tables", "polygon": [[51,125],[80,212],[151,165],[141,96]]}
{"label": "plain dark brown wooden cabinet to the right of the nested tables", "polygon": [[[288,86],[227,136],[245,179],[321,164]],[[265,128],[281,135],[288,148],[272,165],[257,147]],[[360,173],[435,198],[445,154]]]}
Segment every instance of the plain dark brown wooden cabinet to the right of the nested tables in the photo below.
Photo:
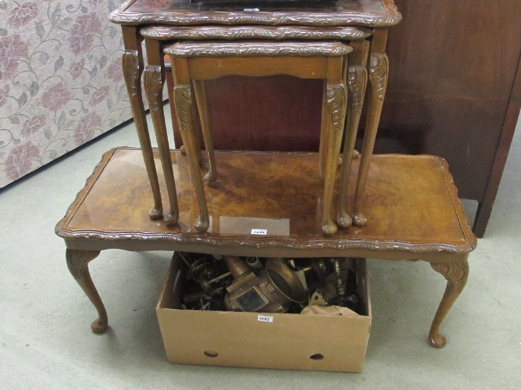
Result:
{"label": "plain dark brown wooden cabinet to the right of the nested tables", "polygon": [[[407,1],[389,30],[389,87],[376,152],[449,161],[482,237],[521,105],[521,1]],[[517,80],[516,80],[517,77]],[[389,148],[392,150],[389,150]]]}

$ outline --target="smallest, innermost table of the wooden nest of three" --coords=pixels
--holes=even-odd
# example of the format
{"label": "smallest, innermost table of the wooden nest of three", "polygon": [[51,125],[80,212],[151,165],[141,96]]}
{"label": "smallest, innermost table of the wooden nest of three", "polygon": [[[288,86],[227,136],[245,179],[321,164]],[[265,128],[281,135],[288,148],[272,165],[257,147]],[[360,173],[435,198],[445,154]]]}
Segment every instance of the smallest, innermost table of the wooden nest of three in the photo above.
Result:
{"label": "smallest, innermost table of the wooden nest of three", "polygon": [[[332,234],[337,225],[331,219],[331,203],[336,181],[337,160],[344,133],[345,111],[348,102],[345,71],[347,56],[353,48],[337,41],[180,41],[165,48],[172,63],[174,102],[183,143],[186,146],[190,172],[199,203],[200,216],[195,228],[201,231],[209,227],[204,185],[199,173],[199,151],[189,118],[192,103],[192,86],[223,75],[274,75],[289,74],[307,79],[324,80],[323,115],[327,135],[324,195],[322,197],[322,231]],[[146,77],[145,77],[146,78]],[[201,88],[201,87],[199,87]],[[195,89],[197,103],[205,106],[204,92]],[[269,113],[268,113],[269,114]],[[206,127],[206,126],[205,126]],[[209,129],[204,134],[206,144]],[[210,181],[217,179],[213,166],[214,150],[206,145],[209,155]],[[261,168],[261,167],[259,167]],[[267,183],[267,185],[270,185]],[[350,224],[351,225],[351,224]]]}

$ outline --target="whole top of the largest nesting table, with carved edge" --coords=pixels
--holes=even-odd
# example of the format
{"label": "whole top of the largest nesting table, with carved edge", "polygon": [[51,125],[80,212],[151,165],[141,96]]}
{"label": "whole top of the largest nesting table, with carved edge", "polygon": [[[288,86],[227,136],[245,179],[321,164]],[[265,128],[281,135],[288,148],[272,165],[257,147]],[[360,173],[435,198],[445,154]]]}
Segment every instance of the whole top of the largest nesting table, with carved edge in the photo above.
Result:
{"label": "whole top of the largest nesting table, with carved edge", "polygon": [[[251,8],[249,8],[251,7]],[[280,3],[191,3],[129,0],[111,12],[119,24],[301,24],[386,27],[402,16],[393,0]]]}

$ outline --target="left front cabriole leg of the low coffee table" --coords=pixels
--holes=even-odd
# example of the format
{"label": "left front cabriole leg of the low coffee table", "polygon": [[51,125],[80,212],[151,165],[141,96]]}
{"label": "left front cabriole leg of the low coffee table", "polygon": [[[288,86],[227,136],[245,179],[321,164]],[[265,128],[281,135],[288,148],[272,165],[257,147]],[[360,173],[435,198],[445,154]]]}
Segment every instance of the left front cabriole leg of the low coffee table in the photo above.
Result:
{"label": "left front cabriole leg of the low coffee table", "polygon": [[76,249],[67,249],[65,252],[67,267],[71,275],[76,279],[98,312],[98,318],[91,324],[94,333],[103,333],[108,326],[107,310],[105,310],[100,294],[98,294],[89,274],[88,264],[99,254],[100,251],[80,251]]}

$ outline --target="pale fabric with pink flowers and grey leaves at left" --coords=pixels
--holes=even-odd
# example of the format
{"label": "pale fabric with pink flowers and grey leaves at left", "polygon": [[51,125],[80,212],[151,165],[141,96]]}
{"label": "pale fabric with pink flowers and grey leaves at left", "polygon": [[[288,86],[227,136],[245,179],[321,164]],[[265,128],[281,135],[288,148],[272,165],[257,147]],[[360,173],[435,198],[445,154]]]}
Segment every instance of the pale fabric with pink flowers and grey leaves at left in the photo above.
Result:
{"label": "pale fabric with pink flowers and grey leaves at left", "polygon": [[0,0],[0,187],[131,117],[107,0]]}

